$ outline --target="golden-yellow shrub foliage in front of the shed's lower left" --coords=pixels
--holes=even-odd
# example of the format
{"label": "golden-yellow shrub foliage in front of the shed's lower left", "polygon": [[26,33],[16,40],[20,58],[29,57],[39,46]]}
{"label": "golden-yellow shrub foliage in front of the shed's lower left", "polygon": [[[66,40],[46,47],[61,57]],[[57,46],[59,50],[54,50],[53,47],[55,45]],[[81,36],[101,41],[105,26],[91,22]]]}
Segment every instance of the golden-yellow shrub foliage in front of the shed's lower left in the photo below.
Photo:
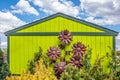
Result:
{"label": "golden-yellow shrub foliage in front of the shed's lower left", "polygon": [[34,69],[34,74],[25,71],[21,73],[20,76],[7,77],[6,80],[57,80],[53,74],[52,68],[46,68],[42,59],[38,61]]}

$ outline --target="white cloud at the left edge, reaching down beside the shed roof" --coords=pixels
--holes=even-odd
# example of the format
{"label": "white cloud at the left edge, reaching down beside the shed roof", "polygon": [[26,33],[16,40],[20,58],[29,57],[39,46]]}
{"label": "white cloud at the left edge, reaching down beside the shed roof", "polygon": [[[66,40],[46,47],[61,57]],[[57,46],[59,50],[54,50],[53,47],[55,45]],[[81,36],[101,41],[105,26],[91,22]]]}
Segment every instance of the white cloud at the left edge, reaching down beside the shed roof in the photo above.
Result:
{"label": "white cloud at the left edge, reaching down beside the shed roof", "polygon": [[6,48],[7,42],[6,36],[4,35],[5,31],[14,29],[21,25],[24,25],[25,22],[14,16],[10,12],[1,12],[0,11],[0,38],[1,38],[1,47]]}

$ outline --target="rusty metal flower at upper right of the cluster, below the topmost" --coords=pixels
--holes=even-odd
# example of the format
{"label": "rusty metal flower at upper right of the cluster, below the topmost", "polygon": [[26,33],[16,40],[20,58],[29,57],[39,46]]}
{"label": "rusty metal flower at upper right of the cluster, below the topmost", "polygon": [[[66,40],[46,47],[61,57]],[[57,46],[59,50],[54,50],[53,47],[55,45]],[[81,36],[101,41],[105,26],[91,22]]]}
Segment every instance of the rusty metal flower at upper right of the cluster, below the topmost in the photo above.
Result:
{"label": "rusty metal flower at upper right of the cluster, below the topmost", "polygon": [[77,55],[77,56],[78,55],[82,56],[86,51],[86,47],[81,42],[77,42],[76,44],[73,45],[72,48],[73,48],[74,55]]}

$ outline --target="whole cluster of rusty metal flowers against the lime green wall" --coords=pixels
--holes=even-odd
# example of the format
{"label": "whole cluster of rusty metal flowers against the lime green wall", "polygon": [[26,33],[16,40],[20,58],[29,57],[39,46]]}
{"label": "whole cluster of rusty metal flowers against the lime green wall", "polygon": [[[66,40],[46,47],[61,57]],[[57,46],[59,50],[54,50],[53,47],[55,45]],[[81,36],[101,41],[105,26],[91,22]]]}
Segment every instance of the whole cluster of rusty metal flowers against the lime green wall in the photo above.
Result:
{"label": "whole cluster of rusty metal flowers against the lime green wall", "polygon": [[[48,49],[47,54],[52,63],[54,63],[54,70],[55,70],[55,75],[58,79],[60,79],[62,72],[64,72],[66,65],[72,64],[73,66],[77,68],[81,68],[82,64],[82,57],[83,54],[86,51],[86,47],[84,44],[81,42],[77,42],[73,45],[72,51],[71,50],[66,50],[67,44],[70,44],[72,41],[72,36],[71,33],[68,30],[63,30],[60,32],[58,39],[60,40],[60,44],[58,44],[57,47],[50,47]],[[61,52],[60,50],[64,51],[64,58],[61,57]],[[71,53],[73,53],[73,56],[71,57]],[[70,61],[66,60],[66,57],[70,56]],[[60,62],[57,63],[57,59],[60,59]]]}

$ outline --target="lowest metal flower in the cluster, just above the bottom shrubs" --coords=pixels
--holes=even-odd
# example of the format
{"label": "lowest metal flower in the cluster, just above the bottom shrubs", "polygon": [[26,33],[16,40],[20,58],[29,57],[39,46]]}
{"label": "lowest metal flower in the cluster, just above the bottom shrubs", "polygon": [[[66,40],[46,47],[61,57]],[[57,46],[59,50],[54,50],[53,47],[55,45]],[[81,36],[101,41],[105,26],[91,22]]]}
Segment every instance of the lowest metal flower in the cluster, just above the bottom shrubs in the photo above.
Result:
{"label": "lowest metal flower in the cluster, just above the bottom shrubs", "polygon": [[60,78],[62,72],[65,70],[65,66],[66,66],[65,62],[60,62],[55,64],[54,70],[55,70],[55,75],[57,76],[58,79]]}

